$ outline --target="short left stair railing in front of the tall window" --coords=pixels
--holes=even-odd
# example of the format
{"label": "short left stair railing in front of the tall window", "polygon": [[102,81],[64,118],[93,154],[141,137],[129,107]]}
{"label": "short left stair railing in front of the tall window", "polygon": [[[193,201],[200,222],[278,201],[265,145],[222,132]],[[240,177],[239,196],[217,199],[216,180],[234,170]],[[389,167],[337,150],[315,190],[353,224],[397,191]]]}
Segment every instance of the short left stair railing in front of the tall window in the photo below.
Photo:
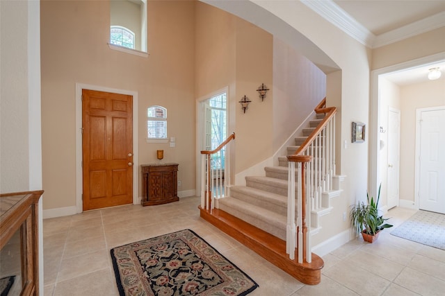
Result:
{"label": "short left stair railing in front of the tall window", "polygon": [[[228,144],[232,139],[235,139],[234,132],[215,150],[201,151],[201,209],[213,209],[215,198],[223,198],[225,194],[228,194],[227,190],[230,186],[230,145]],[[224,168],[222,165],[212,166],[212,162],[214,164],[218,161],[217,159],[224,159]]]}

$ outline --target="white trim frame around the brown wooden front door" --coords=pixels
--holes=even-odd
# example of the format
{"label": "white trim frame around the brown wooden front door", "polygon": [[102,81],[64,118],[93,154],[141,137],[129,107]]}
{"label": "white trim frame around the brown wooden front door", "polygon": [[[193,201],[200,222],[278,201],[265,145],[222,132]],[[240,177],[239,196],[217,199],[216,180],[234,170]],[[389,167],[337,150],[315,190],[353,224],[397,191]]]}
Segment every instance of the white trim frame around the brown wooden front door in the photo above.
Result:
{"label": "white trim frame around the brown wooden front door", "polygon": [[99,92],[113,92],[133,96],[133,204],[139,204],[138,196],[138,92],[125,89],[113,89],[97,85],[76,83],[76,213],[83,211],[82,192],[82,89]]}

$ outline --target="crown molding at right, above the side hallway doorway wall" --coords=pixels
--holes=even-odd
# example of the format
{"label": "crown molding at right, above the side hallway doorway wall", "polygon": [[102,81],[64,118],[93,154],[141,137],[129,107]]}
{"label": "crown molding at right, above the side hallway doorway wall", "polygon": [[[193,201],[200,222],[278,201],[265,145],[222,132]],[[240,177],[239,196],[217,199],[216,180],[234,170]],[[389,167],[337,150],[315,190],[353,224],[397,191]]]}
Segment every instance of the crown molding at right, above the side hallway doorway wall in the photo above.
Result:
{"label": "crown molding at right, above the side hallway doorway wall", "polygon": [[401,28],[396,28],[393,31],[383,33],[375,38],[373,49],[380,46],[385,46],[394,42],[398,42],[409,37],[426,33],[428,31],[442,28],[445,26],[445,11],[439,12],[436,15],[426,17],[419,21],[414,21],[412,24],[407,24]]}

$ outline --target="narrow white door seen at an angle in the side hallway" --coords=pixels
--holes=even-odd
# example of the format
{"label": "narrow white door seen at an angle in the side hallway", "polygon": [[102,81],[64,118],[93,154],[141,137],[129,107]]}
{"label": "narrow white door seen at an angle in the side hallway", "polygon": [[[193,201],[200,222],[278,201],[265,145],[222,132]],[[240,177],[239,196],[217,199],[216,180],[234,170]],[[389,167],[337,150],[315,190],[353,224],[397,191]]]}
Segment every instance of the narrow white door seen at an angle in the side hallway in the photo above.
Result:
{"label": "narrow white door seen at an angle in the side hallway", "polygon": [[400,142],[401,142],[401,112],[389,108],[388,112],[388,174],[387,198],[388,209],[398,206],[400,177]]}

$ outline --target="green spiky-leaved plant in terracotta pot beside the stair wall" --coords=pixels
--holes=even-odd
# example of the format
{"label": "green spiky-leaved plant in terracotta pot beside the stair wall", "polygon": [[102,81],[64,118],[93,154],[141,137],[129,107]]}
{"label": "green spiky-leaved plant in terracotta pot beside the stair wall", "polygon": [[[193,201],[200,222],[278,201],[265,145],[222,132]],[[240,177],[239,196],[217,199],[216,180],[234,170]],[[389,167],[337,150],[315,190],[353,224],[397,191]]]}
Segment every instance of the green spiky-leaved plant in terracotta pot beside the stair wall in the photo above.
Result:
{"label": "green spiky-leaved plant in terracotta pot beside the stair wall", "polygon": [[369,199],[368,193],[366,198],[368,204],[359,202],[353,205],[350,210],[350,223],[353,225],[357,234],[362,234],[364,241],[373,243],[378,238],[380,230],[392,227],[392,225],[385,223],[388,218],[383,218],[378,214],[378,202],[380,200],[380,189],[382,184],[378,188],[377,201],[374,198]]}

